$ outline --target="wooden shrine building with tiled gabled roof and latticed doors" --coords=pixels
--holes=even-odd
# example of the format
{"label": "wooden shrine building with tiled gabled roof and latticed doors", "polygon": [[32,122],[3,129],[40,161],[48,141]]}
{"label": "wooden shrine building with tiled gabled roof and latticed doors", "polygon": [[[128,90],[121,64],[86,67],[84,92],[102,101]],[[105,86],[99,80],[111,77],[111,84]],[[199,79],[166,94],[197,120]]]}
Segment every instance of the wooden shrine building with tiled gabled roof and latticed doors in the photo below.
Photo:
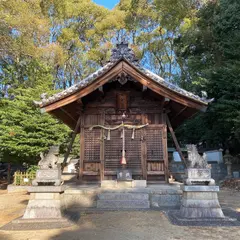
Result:
{"label": "wooden shrine building with tiled gabled roof and latticed doors", "polygon": [[167,131],[181,155],[173,129],[208,101],[140,66],[120,43],[105,66],[39,106],[80,133],[82,182],[116,179],[123,165],[135,180],[168,182]]}

